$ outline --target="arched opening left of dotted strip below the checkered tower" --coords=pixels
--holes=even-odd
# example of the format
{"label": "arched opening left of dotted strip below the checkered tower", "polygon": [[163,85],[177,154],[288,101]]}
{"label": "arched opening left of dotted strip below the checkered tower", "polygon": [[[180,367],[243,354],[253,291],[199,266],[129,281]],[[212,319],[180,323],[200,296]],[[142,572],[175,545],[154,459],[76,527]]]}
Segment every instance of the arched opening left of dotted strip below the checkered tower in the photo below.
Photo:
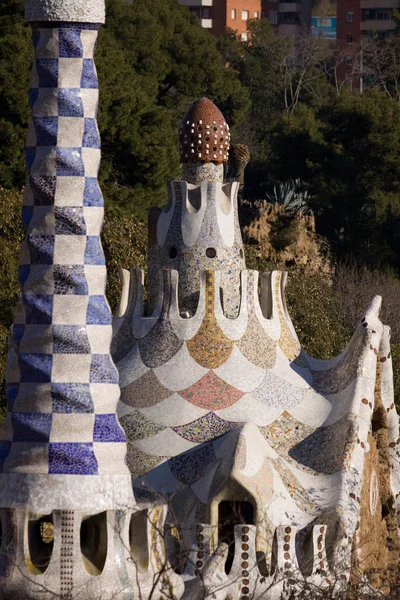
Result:
{"label": "arched opening left of dotted strip below the checkered tower", "polygon": [[44,573],[50,564],[54,546],[53,515],[30,514],[26,523],[25,556],[33,575]]}

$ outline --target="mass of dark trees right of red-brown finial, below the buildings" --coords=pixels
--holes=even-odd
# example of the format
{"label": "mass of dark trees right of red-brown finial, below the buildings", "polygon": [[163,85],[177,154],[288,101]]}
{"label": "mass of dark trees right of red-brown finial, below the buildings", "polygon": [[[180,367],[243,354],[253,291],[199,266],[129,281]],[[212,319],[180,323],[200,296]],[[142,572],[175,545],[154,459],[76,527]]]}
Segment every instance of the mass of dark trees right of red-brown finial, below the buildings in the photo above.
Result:
{"label": "mass of dark trees right of red-brown finial, below the buildings", "polygon": [[[306,32],[293,45],[266,21],[249,22],[245,44],[232,32],[219,42],[251,98],[236,133],[252,151],[244,197],[269,198],[298,178],[336,258],[400,272],[400,46],[363,44],[364,63],[353,47]],[[365,73],[374,77],[362,88]]]}

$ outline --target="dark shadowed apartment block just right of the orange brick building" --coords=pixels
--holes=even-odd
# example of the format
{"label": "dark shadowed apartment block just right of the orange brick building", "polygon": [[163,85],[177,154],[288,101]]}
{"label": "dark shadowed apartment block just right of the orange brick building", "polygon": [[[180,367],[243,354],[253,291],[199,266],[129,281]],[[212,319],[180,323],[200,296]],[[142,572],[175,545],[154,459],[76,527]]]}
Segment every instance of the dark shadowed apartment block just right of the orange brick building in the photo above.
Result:
{"label": "dark shadowed apartment block just right of the orange brick building", "polygon": [[262,16],[282,35],[311,27],[312,0],[262,0]]}

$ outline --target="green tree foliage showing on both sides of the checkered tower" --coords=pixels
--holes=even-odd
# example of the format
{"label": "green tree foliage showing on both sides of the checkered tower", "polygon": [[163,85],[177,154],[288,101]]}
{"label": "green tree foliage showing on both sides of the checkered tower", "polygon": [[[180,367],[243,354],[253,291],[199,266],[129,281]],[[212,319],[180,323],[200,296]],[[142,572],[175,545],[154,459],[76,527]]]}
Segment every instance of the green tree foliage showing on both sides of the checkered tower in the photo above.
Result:
{"label": "green tree foliage showing on both sides of the checkered tower", "polygon": [[[176,0],[107,1],[96,64],[100,81],[100,178],[112,203],[142,217],[163,201],[165,181],[178,173],[177,127],[188,106],[206,95],[235,126],[248,94],[227,68],[216,40]],[[23,0],[0,9],[0,185],[25,178],[23,146],[29,120],[33,52]]]}

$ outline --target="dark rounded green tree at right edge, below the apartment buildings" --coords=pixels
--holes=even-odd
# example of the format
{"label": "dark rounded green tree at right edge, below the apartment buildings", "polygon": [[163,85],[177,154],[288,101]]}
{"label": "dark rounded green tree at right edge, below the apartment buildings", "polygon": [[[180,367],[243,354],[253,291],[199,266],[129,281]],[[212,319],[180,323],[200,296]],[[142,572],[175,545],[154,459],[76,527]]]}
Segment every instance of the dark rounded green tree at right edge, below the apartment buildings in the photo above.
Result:
{"label": "dark rounded green tree at right edge, below the apartment buildings", "polygon": [[274,176],[308,185],[319,233],[341,255],[399,268],[400,105],[374,89],[299,105],[274,127]]}

